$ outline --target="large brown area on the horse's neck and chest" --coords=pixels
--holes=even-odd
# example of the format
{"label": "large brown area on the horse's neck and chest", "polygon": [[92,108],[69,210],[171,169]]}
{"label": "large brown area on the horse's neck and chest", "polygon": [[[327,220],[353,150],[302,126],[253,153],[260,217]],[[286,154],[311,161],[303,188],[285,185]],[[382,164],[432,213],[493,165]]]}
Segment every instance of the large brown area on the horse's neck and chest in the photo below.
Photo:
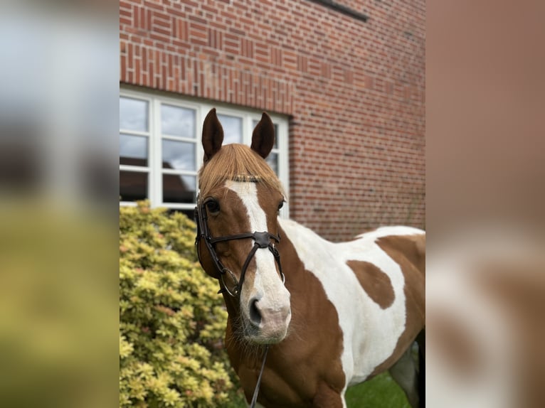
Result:
{"label": "large brown area on the horse's neck and chest", "polygon": [[[282,239],[277,248],[291,294],[292,320],[287,337],[269,348],[258,402],[268,408],[340,408],[346,379],[337,310],[327,299],[322,283],[305,270],[292,242],[282,230],[279,232]],[[263,351],[255,352],[237,340],[233,333],[236,310],[228,305],[228,312],[227,352],[250,401]]]}

